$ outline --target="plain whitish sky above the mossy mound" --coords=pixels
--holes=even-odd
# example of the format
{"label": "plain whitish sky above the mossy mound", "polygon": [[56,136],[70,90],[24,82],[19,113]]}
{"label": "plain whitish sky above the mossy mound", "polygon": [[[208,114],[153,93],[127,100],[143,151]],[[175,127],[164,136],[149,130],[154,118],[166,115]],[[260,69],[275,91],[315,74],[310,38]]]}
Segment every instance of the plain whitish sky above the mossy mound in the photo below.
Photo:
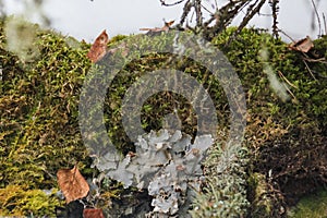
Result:
{"label": "plain whitish sky above the mossy mound", "polygon": [[[29,10],[29,13],[26,11],[26,5],[32,5],[31,0],[2,1],[8,14],[25,14],[32,21],[38,22],[36,10]],[[225,2],[225,0],[217,1],[220,5]],[[306,35],[316,38],[318,35],[318,29],[313,32],[311,28],[313,11],[311,1],[280,0],[279,27],[294,39]],[[322,19],[322,31],[325,33],[323,13],[327,16],[327,0],[320,0],[317,8]],[[159,0],[45,0],[43,10],[51,20],[51,28],[90,43],[102,29],[107,29],[109,36],[142,33],[138,31],[141,27],[162,26],[164,19],[179,20],[182,5],[164,8]],[[262,13],[269,12],[267,5],[262,10]],[[268,28],[271,26],[271,20],[259,16],[251,24]]]}

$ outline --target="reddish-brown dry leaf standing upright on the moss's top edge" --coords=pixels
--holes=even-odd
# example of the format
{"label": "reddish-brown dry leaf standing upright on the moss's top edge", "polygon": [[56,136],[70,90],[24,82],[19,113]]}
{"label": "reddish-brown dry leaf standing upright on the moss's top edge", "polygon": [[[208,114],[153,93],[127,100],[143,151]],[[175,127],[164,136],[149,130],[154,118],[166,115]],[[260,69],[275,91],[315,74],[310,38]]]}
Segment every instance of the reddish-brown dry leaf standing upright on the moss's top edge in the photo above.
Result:
{"label": "reddish-brown dry leaf standing upright on the moss's top edge", "polygon": [[106,33],[106,29],[96,38],[92,45],[87,58],[93,62],[99,61],[107,52],[107,44],[109,41],[109,36]]}

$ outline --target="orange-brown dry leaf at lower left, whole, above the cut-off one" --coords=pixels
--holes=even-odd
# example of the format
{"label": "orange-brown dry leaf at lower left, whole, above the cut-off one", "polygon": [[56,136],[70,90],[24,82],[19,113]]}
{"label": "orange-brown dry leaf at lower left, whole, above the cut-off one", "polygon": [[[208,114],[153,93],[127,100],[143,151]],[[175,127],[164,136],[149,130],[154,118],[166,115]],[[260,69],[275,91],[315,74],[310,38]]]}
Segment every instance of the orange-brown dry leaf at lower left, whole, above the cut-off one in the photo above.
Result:
{"label": "orange-brown dry leaf at lower left, whole, above the cut-off one", "polygon": [[58,170],[57,179],[66,204],[85,197],[89,191],[86,180],[83,178],[76,166],[73,169]]}

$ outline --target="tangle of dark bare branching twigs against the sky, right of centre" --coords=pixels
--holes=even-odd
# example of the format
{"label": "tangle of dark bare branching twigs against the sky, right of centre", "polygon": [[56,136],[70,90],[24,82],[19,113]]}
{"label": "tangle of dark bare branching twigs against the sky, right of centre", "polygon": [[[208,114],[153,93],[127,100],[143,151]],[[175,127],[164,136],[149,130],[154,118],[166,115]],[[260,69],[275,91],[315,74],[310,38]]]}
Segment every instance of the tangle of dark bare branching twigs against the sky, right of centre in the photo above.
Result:
{"label": "tangle of dark bare branching twigs against the sky, right of centre", "polygon": [[[255,14],[259,14],[264,3],[269,1],[274,17],[272,33],[276,37],[278,37],[277,15],[279,10],[279,0],[230,0],[222,7],[218,7],[218,0],[211,0],[214,11],[203,5],[203,0],[171,0],[172,3],[168,3],[168,0],[159,1],[162,5],[169,7],[183,3],[183,12],[177,28],[191,28],[196,33],[203,33],[204,37],[207,39],[210,39],[223,32],[232,23],[232,21],[235,20],[240,12],[243,12],[243,9],[246,9],[246,12],[243,12],[243,20],[234,34],[234,36],[238,35],[255,16]],[[203,17],[203,10],[209,13],[209,17]],[[187,21],[195,21],[195,28],[189,27]]]}

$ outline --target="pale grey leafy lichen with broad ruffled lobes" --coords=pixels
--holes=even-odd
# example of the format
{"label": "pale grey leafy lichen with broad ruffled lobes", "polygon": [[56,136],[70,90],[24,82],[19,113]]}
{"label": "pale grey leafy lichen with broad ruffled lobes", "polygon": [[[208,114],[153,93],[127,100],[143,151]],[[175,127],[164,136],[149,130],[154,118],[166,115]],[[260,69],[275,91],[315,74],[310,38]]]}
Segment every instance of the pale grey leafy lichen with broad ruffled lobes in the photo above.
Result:
{"label": "pale grey leafy lichen with broad ruffled lobes", "polygon": [[104,160],[94,165],[106,171],[107,177],[122,182],[124,187],[147,189],[154,206],[147,216],[173,216],[190,202],[192,190],[199,191],[202,160],[214,143],[210,135],[197,136],[193,144],[191,141],[192,137],[181,131],[152,131],[138,136],[136,153],[117,161],[116,167],[112,161]]}

